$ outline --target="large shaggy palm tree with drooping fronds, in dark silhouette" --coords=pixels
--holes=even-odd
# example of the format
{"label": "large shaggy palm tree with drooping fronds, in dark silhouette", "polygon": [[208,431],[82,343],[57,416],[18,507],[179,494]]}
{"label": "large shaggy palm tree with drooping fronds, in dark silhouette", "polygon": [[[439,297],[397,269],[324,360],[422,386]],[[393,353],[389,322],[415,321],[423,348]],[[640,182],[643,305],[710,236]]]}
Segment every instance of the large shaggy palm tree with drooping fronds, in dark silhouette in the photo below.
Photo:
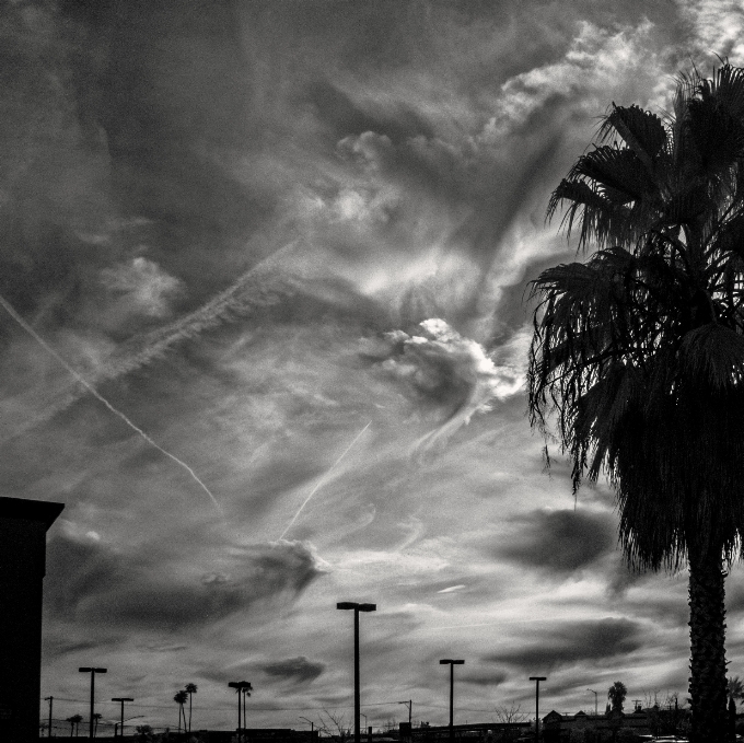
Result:
{"label": "large shaggy palm tree with drooping fronds, in dark silhouette", "polygon": [[548,206],[596,252],[533,282],[531,422],[557,421],[574,494],[608,475],[631,567],[687,564],[706,743],[724,738],[724,568],[744,535],[743,119],[728,62],[681,76],[663,118],[613,104]]}

